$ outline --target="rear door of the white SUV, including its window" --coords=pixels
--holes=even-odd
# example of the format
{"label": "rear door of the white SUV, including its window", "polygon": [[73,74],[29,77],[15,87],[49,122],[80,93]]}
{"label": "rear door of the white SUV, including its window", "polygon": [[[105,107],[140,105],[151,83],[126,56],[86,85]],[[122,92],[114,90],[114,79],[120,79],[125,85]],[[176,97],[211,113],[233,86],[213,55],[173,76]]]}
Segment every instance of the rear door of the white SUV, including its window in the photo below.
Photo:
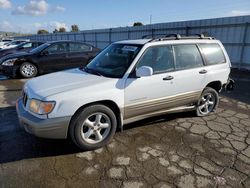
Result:
{"label": "rear door of the white SUV, including its window", "polygon": [[204,89],[207,73],[199,48],[196,44],[176,44],[173,45],[173,50],[175,54],[173,84],[176,94],[185,94],[186,99],[193,97],[193,100],[198,100]]}

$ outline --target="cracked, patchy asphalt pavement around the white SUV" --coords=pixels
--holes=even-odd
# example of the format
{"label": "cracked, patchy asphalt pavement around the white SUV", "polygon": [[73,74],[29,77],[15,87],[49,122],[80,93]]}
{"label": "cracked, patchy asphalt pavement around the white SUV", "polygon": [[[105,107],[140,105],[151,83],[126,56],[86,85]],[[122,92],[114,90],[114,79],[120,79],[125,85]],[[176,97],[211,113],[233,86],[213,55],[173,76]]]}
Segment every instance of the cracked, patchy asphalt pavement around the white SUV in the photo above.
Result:
{"label": "cracked, patchy asphalt pavement around the white SUV", "polygon": [[250,187],[249,75],[233,72],[235,91],[210,116],[129,124],[95,151],[23,131],[14,105],[27,80],[2,80],[0,187]]}

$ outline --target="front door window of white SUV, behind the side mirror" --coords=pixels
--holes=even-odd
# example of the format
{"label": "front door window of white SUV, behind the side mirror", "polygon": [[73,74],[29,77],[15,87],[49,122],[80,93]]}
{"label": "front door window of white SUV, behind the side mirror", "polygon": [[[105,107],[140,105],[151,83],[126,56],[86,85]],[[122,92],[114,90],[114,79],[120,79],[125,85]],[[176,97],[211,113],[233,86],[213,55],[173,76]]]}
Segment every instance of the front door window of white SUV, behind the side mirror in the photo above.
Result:
{"label": "front door window of white SUV, behind the side mirror", "polygon": [[148,48],[136,67],[141,66],[151,67],[154,74],[174,70],[172,47],[168,45]]}

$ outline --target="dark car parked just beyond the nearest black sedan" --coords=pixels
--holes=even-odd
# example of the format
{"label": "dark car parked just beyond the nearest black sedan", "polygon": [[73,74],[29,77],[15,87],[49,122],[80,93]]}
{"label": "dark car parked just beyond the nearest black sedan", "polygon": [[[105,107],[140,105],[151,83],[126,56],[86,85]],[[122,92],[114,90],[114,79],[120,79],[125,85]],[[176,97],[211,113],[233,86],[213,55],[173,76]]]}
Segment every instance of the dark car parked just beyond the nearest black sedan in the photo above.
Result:
{"label": "dark car parked just beyond the nearest black sedan", "polygon": [[14,48],[7,48],[0,50],[0,58],[18,52],[28,52],[42,44],[44,44],[44,42],[37,42],[37,41],[23,42]]}

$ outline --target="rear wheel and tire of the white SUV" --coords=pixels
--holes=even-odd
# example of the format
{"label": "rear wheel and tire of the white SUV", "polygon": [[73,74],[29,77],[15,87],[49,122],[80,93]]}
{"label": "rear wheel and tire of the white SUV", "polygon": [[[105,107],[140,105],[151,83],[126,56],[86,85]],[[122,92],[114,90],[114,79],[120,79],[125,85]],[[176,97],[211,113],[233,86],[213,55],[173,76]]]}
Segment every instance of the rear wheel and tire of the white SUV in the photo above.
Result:
{"label": "rear wheel and tire of the white SUV", "polygon": [[206,87],[197,103],[196,115],[206,116],[214,112],[219,104],[219,95],[216,90],[210,87]]}

